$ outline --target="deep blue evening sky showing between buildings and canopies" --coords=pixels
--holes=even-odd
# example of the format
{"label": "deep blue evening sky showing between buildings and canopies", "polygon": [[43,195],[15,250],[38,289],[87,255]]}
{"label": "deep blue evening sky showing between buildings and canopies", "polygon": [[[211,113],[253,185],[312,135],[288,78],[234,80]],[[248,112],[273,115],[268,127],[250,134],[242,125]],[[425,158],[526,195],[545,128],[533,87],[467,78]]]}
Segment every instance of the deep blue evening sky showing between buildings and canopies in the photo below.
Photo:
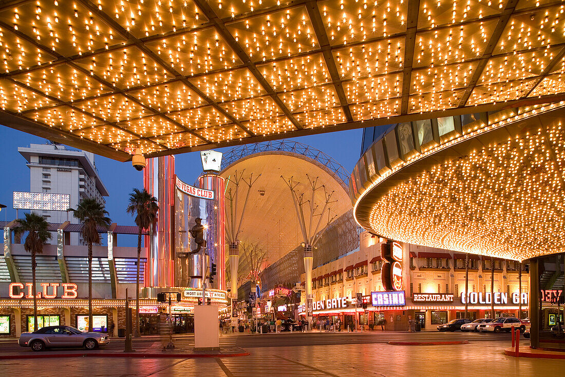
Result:
{"label": "deep blue evening sky showing between buildings and canopies", "polygon": [[[359,129],[302,136],[289,140],[297,140],[327,153],[339,162],[347,172],[351,172],[351,169],[359,160],[362,135],[363,130]],[[8,207],[0,212],[0,220],[4,220],[5,216],[8,220],[15,219],[16,211],[12,209],[12,192],[29,191],[29,169],[25,166],[25,158],[18,153],[18,147],[25,147],[29,144],[44,144],[45,142],[46,139],[0,126],[0,157],[3,161],[0,167],[3,177],[0,203]],[[225,152],[229,148],[218,150]],[[128,195],[132,188],[142,187],[142,173],[133,169],[131,162],[118,162],[110,158],[96,156],[95,163],[102,181],[110,192],[110,196],[106,198],[106,209],[110,212],[110,218],[120,225],[133,225],[133,217],[125,212],[125,207],[127,207]],[[179,178],[189,183],[194,182],[202,172],[199,152],[176,155],[175,168]]]}

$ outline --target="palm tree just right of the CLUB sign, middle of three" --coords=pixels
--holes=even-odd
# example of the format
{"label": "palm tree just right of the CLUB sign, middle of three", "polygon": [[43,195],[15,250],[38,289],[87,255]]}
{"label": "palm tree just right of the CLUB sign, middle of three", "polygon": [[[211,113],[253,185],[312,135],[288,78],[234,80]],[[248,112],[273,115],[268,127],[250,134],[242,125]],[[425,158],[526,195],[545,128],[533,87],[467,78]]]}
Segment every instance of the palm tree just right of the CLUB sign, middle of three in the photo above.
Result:
{"label": "palm tree just right of the CLUB sign, middle of three", "polygon": [[104,204],[94,198],[84,198],[76,209],[68,210],[82,223],[82,238],[88,245],[88,331],[92,332],[92,244],[100,243],[98,226],[108,228],[112,220],[106,217],[108,211]]}

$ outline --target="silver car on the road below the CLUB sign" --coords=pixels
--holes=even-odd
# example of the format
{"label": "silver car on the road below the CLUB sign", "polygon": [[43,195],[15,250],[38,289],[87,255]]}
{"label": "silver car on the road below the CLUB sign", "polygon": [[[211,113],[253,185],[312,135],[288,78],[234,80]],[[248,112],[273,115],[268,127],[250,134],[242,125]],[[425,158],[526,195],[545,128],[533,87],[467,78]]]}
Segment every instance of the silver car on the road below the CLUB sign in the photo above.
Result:
{"label": "silver car on the road below the CLUB sign", "polygon": [[106,334],[100,332],[81,332],[70,326],[46,326],[34,332],[24,332],[18,339],[22,347],[42,351],[54,347],[84,347],[88,350],[110,343]]}

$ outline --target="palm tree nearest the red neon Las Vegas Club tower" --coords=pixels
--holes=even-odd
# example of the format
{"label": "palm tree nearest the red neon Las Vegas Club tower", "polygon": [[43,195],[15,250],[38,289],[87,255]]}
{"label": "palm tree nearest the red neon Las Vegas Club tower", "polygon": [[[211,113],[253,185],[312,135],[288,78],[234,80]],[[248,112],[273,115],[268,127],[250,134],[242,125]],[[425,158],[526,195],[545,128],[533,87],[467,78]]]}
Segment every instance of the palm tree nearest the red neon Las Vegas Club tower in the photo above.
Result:
{"label": "palm tree nearest the red neon Las Vegas Club tower", "polygon": [[136,337],[140,334],[140,259],[141,259],[141,232],[149,228],[157,221],[159,204],[157,198],[149,194],[147,190],[140,191],[137,188],[129,194],[129,205],[126,209],[132,216],[136,215],[137,224],[137,279],[136,279]]}

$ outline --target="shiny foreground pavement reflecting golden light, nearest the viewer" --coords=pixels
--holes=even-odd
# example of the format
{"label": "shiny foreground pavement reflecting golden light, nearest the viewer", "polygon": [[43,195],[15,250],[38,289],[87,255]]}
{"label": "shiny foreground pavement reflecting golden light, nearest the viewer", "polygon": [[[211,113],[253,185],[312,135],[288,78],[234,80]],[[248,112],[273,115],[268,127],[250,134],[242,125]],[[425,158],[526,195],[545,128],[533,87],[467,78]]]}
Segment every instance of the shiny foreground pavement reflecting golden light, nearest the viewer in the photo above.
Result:
{"label": "shiny foreground pavement reflecting golden light, nearest the viewer", "polygon": [[[444,334],[435,334],[435,336],[437,339]],[[271,347],[247,348],[251,354],[244,357],[205,359],[88,357],[2,360],[0,375],[18,377],[546,377],[563,375],[565,370],[563,360],[514,358],[505,355],[503,348],[509,345],[508,340],[475,340],[466,345],[449,346],[396,346],[382,342],[280,346],[280,341],[284,337],[285,335],[271,337],[273,340]],[[298,340],[299,337],[295,339]],[[523,341],[522,346],[527,346],[527,342]]]}

